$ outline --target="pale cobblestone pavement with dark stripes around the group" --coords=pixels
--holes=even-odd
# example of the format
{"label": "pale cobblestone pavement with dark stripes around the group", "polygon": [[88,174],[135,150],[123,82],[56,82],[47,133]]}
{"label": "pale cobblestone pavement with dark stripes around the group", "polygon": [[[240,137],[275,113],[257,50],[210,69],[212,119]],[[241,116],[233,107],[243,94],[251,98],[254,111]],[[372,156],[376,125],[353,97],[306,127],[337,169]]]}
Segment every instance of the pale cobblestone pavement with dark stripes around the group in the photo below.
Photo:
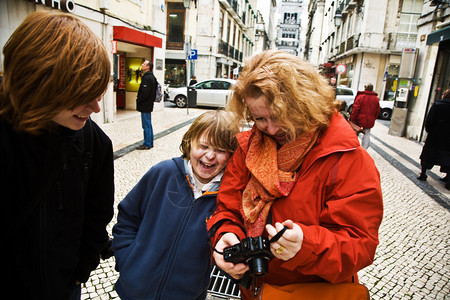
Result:
{"label": "pale cobblestone pavement with dark stripes around the group", "polygon": [[[152,114],[158,139],[147,151],[131,151],[115,160],[115,208],[155,163],[180,155],[181,137],[189,120],[204,110],[165,107]],[[177,130],[175,124],[186,124]],[[142,140],[140,116],[125,113],[101,125],[115,151]],[[388,134],[389,122],[377,121],[368,152],[381,175],[384,218],[375,261],[358,275],[372,299],[450,299],[450,191],[437,168],[427,182],[416,179],[423,144]],[[116,215],[108,226],[111,231]],[[119,299],[114,291],[118,273],[114,258],[102,261],[83,286],[82,299]],[[209,296],[208,299],[216,299]]]}

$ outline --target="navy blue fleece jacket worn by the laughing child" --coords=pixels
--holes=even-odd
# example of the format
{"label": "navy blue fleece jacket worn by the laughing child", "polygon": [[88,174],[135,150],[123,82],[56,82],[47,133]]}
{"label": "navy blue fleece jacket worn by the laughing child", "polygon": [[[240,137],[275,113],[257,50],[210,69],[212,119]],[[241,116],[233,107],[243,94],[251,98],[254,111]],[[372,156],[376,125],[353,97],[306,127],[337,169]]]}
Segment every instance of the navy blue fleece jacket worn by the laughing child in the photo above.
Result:
{"label": "navy blue fleece jacket worn by the laughing child", "polygon": [[121,299],[205,299],[211,257],[206,219],[218,184],[194,200],[181,157],[152,167],[119,204],[113,228]]}

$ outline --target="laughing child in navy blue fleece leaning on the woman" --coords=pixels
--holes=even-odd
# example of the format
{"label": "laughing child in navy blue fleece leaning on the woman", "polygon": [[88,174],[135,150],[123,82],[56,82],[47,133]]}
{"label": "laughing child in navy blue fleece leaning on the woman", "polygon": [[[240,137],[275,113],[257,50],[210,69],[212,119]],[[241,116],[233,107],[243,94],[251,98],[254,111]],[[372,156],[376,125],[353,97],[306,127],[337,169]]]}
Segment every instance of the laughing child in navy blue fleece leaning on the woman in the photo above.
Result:
{"label": "laughing child in navy blue fleece leaning on the woman", "polygon": [[113,250],[122,299],[206,298],[206,220],[238,131],[225,111],[203,113],[183,136],[182,157],[152,167],[120,202]]}

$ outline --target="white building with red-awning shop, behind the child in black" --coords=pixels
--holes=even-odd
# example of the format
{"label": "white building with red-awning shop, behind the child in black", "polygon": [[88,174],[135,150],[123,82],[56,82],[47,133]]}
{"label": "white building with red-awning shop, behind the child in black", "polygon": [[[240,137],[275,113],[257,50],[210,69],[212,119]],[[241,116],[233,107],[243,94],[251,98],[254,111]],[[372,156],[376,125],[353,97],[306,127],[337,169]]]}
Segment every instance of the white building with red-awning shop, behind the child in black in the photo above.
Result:
{"label": "white building with red-awning shop, behind the child in black", "polygon": [[[37,10],[58,10],[79,17],[104,43],[110,53],[112,82],[102,101],[96,122],[112,122],[117,109],[135,109],[140,84],[140,65],[155,64],[162,82],[164,74],[164,1],[142,0],[2,0],[0,1],[0,48],[25,17]],[[162,21],[161,21],[162,20]],[[156,25],[153,25],[156,24]],[[1,69],[3,70],[3,57]]]}

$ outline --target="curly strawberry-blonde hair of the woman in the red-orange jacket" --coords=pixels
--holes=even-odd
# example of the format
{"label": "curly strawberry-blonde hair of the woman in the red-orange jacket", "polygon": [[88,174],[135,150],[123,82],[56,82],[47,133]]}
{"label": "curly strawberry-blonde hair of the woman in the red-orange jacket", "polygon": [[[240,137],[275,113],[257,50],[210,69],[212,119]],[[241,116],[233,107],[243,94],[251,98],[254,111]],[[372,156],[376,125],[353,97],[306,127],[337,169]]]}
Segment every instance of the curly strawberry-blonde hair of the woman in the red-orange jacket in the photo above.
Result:
{"label": "curly strawberry-blonde hair of the woman in the red-orange jacket", "polygon": [[228,106],[241,126],[252,121],[245,98],[261,95],[290,140],[324,130],[335,111],[334,91],[326,79],[310,63],[283,51],[265,51],[246,61]]}

